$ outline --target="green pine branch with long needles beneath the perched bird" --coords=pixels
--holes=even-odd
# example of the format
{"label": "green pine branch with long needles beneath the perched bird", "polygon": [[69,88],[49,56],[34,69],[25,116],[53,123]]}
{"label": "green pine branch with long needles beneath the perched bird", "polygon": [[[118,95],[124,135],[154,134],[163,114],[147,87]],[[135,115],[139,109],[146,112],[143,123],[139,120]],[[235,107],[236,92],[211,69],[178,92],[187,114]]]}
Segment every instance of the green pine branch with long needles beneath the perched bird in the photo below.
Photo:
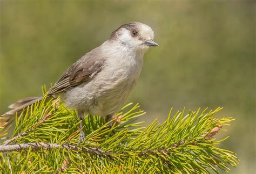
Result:
{"label": "green pine branch with long needles beneath the perched bird", "polygon": [[[12,137],[0,145],[0,169],[6,173],[228,171],[228,165],[236,166],[239,159],[217,146],[226,138],[217,141],[214,136],[234,119],[214,118],[220,110],[185,114],[184,108],[174,115],[171,110],[163,124],[155,120],[142,127],[136,119],[145,112],[138,104],[129,104],[113,118],[111,129],[101,117],[86,117],[86,139],[78,144],[77,113],[56,100],[43,100],[16,117]],[[0,137],[7,128],[0,120]]]}

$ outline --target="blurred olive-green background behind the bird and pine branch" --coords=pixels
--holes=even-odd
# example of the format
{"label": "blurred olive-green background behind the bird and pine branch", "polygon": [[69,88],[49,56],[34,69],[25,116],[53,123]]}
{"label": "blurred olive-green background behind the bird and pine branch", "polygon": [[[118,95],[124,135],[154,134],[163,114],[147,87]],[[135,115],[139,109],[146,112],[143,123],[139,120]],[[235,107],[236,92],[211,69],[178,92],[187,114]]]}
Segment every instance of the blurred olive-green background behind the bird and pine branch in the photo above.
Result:
{"label": "blurred olive-green background behind the bird and pine branch", "polygon": [[238,153],[231,173],[255,172],[255,16],[253,1],[0,0],[0,113],[19,98],[40,96],[73,62],[129,21],[150,25],[159,47],[145,55],[128,102],[146,123],[173,106],[224,107],[221,147]]}

